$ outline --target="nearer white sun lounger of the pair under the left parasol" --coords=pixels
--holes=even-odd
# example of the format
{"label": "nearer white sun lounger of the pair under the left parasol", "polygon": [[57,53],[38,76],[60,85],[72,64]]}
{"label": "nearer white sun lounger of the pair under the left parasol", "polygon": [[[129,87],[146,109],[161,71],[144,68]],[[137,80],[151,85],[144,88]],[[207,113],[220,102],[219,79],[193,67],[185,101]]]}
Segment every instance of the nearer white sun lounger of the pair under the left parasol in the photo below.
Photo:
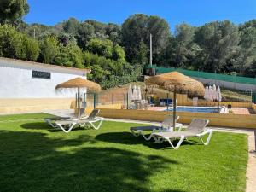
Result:
{"label": "nearer white sun lounger of the pair under the left parasol", "polygon": [[[99,109],[94,109],[90,115],[85,119],[67,119],[67,120],[57,120],[55,121],[56,127],[61,128],[64,132],[70,132],[75,125],[85,126],[91,125],[94,129],[98,130],[104,118],[97,117],[97,114],[100,112]],[[95,125],[96,122],[100,122],[98,125]]]}

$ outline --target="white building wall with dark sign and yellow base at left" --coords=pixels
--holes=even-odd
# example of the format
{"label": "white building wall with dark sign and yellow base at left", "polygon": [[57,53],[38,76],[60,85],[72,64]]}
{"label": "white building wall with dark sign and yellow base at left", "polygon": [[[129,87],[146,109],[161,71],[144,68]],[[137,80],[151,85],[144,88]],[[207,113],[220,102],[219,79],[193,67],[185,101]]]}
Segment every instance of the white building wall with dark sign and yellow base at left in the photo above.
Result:
{"label": "white building wall with dark sign and yellow base at left", "polygon": [[[90,73],[89,69],[0,57],[0,113],[25,111],[24,108],[29,106],[39,109],[39,105],[44,109],[67,108],[67,101],[74,99],[74,93],[60,94],[55,91],[55,86],[77,77],[86,79],[87,73]],[[60,103],[65,103],[66,107]]]}

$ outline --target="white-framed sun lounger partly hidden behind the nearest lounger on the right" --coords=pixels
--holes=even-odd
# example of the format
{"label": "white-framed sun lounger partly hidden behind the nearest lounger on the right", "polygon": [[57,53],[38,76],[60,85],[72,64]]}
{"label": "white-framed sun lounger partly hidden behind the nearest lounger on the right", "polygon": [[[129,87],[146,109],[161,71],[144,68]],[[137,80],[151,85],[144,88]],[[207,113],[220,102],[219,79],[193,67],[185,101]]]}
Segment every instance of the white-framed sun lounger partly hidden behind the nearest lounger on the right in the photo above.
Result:
{"label": "white-framed sun lounger partly hidden behind the nearest lounger on the right", "polygon": [[[176,116],[176,121],[179,119],[179,116]],[[182,124],[176,123],[175,127],[178,128],[178,131],[181,130]],[[151,125],[151,126],[137,126],[130,128],[131,133],[138,137],[140,135],[147,141],[149,141],[153,137],[154,132],[162,132],[162,131],[172,131],[173,130],[173,117],[167,116],[166,119],[159,125]],[[152,131],[148,137],[146,137],[144,131]]]}

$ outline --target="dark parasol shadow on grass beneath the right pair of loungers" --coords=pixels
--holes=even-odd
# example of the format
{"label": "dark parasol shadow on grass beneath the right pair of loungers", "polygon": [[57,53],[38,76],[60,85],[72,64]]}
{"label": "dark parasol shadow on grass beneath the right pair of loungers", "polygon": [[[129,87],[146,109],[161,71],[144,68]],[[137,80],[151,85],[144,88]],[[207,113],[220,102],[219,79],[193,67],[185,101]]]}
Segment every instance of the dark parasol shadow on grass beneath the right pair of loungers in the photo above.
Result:
{"label": "dark parasol shadow on grass beneath the right pair of loungers", "polygon": [[[148,135],[149,136],[149,135]],[[147,137],[148,137],[147,136]],[[167,142],[164,143],[155,143],[152,138],[150,141],[146,141],[142,136],[134,137],[130,132],[108,132],[102,133],[96,136],[96,140],[108,143],[120,143],[127,145],[143,144],[149,148],[161,149],[161,148],[171,148],[170,144]],[[177,145],[178,139],[172,142],[174,145]],[[184,140],[182,145],[195,145],[200,144],[195,140],[189,139],[189,141]]]}

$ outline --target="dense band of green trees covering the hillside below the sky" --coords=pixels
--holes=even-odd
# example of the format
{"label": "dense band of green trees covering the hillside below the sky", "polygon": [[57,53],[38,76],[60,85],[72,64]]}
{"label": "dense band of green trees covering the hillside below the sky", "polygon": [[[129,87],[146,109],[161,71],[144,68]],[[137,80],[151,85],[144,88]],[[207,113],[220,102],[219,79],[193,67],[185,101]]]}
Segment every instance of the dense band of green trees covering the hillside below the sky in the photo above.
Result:
{"label": "dense band of green trees covering the hillside below the sky", "polygon": [[103,88],[137,80],[149,60],[207,72],[255,77],[256,20],[239,26],[229,20],[203,26],[176,26],[172,35],[158,16],[131,15],[119,26],[75,18],[45,26],[22,21],[26,0],[0,1],[0,56],[67,67],[89,67]]}

